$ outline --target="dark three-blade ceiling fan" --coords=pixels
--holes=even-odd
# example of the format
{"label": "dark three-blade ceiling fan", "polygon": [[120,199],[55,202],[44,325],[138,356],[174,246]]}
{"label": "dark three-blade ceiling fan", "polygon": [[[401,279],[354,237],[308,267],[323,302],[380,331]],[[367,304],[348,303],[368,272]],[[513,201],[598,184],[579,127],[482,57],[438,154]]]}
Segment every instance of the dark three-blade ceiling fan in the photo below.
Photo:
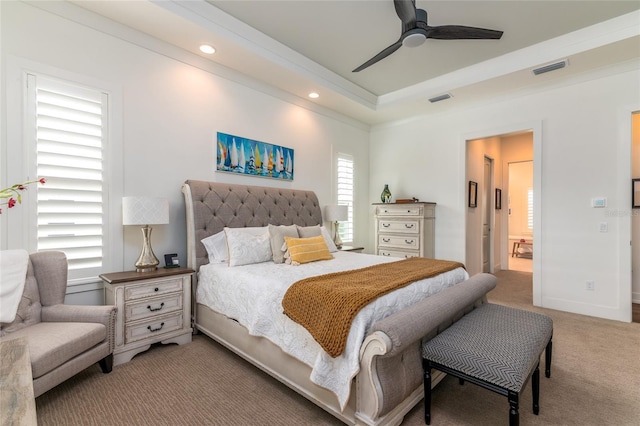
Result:
{"label": "dark three-blade ceiling fan", "polygon": [[373,58],[353,70],[359,72],[370,67],[381,59],[391,55],[401,46],[417,47],[428,38],[440,40],[464,40],[464,39],[499,39],[502,31],[488,30],[485,28],[465,27],[462,25],[442,25],[430,27],[427,24],[427,12],[416,9],[415,0],[393,0],[396,13],[402,21],[402,35],[391,46],[387,47]]}

